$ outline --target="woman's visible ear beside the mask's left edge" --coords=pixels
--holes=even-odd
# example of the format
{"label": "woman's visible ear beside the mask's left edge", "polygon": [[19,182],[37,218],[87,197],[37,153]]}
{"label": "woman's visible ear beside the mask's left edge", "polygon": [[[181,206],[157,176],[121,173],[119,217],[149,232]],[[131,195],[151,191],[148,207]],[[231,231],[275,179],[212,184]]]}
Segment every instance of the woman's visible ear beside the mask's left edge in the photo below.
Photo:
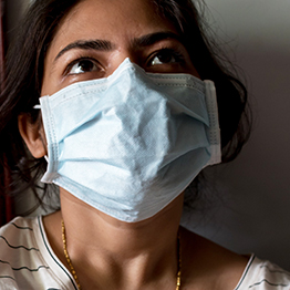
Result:
{"label": "woman's visible ear beside the mask's left edge", "polygon": [[32,156],[34,158],[43,157],[46,148],[43,142],[44,136],[42,136],[44,132],[40,128],[39,123],[31,123],[27,114],[21,114],[18,117],[18,128]]}

